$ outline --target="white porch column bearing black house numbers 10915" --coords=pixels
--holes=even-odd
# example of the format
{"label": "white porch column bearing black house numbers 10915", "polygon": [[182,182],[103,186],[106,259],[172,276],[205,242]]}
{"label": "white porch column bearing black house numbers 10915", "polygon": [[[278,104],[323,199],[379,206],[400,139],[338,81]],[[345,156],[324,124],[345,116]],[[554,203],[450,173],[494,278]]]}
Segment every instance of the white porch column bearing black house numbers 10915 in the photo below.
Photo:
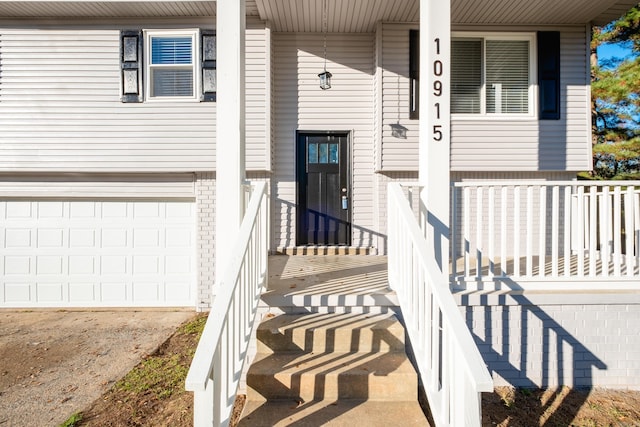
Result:
{"label": "white porch column bearing black house numbers 10915", "polygon": [[427,240],[449,269],[451,0],[420,0],[420,194]]}

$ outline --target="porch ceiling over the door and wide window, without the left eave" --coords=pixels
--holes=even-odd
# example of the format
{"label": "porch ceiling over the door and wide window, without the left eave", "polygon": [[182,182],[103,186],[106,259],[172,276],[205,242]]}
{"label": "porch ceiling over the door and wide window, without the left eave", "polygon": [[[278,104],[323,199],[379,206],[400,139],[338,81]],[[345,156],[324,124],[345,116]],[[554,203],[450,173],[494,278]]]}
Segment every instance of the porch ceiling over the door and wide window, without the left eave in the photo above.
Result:
{"label": "porch ceiling over the door and wide window, without the left eave", "polygon": [[[322,31],[325,0],[256,0],[274,31]],[[373,32],[376,22],[417,22],[419,0],[326,0],[327,31]],[[606,24],[637,0],[452,0],[454,24]]]}

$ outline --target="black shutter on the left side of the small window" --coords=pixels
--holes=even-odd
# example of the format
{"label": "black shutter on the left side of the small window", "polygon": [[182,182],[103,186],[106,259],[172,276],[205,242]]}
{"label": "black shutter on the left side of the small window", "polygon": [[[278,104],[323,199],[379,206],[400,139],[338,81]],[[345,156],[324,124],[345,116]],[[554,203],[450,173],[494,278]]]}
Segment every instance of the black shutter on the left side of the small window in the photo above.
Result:
{"label": "black shutter on the left side of the small window", "polygon": [[122,102],[142,102],[142,31],[120,32],[120,89]]}

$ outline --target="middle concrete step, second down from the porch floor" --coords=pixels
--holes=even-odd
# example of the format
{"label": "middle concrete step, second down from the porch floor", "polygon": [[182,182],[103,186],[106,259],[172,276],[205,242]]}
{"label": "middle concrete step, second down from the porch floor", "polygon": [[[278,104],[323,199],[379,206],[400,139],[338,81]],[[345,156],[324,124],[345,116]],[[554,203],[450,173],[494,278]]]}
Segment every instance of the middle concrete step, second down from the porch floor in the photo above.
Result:
{"label": "middle concrete step, second down from the porch floor", "polygon": [[415,401],[418,379],[404,352],[258,353],[248,400]]}

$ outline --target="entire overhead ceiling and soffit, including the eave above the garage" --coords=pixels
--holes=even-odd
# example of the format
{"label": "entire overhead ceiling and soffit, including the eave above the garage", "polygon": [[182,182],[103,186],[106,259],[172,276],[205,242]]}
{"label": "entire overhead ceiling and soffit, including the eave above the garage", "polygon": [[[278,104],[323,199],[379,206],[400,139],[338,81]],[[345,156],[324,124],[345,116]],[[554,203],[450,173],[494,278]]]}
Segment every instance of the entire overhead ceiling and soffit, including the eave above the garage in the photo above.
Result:
{"label": "entire overhead ceiling and soffit, including the eave above the garage", "polygon": [[[274,31],[322,31],[325,0],[246,0]],[[417,22],[419,0],[326,0],[327,31],[373,32],[378,21]],[[452,0],[458,24],[605,24],[637,0]],[[0,0],[0,18],[214,16],[215,0]]]}

